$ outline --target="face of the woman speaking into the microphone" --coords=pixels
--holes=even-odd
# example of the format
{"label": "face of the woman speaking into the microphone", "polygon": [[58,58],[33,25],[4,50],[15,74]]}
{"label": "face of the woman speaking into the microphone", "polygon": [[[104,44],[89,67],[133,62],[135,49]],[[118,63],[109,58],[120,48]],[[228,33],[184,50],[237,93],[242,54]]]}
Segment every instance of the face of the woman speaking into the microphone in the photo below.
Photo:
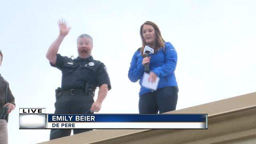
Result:
{"label": "face of the woman speaking into the microphone", "polygon": [[153,26],[145,24],[142,28],[142,36],[148,45],[154,45],[156,43],[156,32]]}

